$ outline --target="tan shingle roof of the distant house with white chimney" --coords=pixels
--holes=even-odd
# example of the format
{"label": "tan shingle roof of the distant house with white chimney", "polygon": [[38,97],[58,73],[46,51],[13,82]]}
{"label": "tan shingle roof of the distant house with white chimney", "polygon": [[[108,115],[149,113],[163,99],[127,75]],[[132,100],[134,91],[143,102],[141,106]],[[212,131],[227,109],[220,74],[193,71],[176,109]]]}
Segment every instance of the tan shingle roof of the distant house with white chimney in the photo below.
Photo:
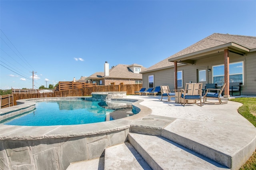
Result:
{"label": "tan shingle roof of the distant house with white chimney", "polygon": [[[109,76],[104,76],[104,72],[96,72],[88,77],[88,79],[101,79],[103,77],[107,78],[134,78],[134,79],[142,79],[142,74],[134,73],[128,67],[130,66],[141,66],[139,64],[118,64],[109,70]],[[141,66],[141,70],[145,70],[146,68]]]}

